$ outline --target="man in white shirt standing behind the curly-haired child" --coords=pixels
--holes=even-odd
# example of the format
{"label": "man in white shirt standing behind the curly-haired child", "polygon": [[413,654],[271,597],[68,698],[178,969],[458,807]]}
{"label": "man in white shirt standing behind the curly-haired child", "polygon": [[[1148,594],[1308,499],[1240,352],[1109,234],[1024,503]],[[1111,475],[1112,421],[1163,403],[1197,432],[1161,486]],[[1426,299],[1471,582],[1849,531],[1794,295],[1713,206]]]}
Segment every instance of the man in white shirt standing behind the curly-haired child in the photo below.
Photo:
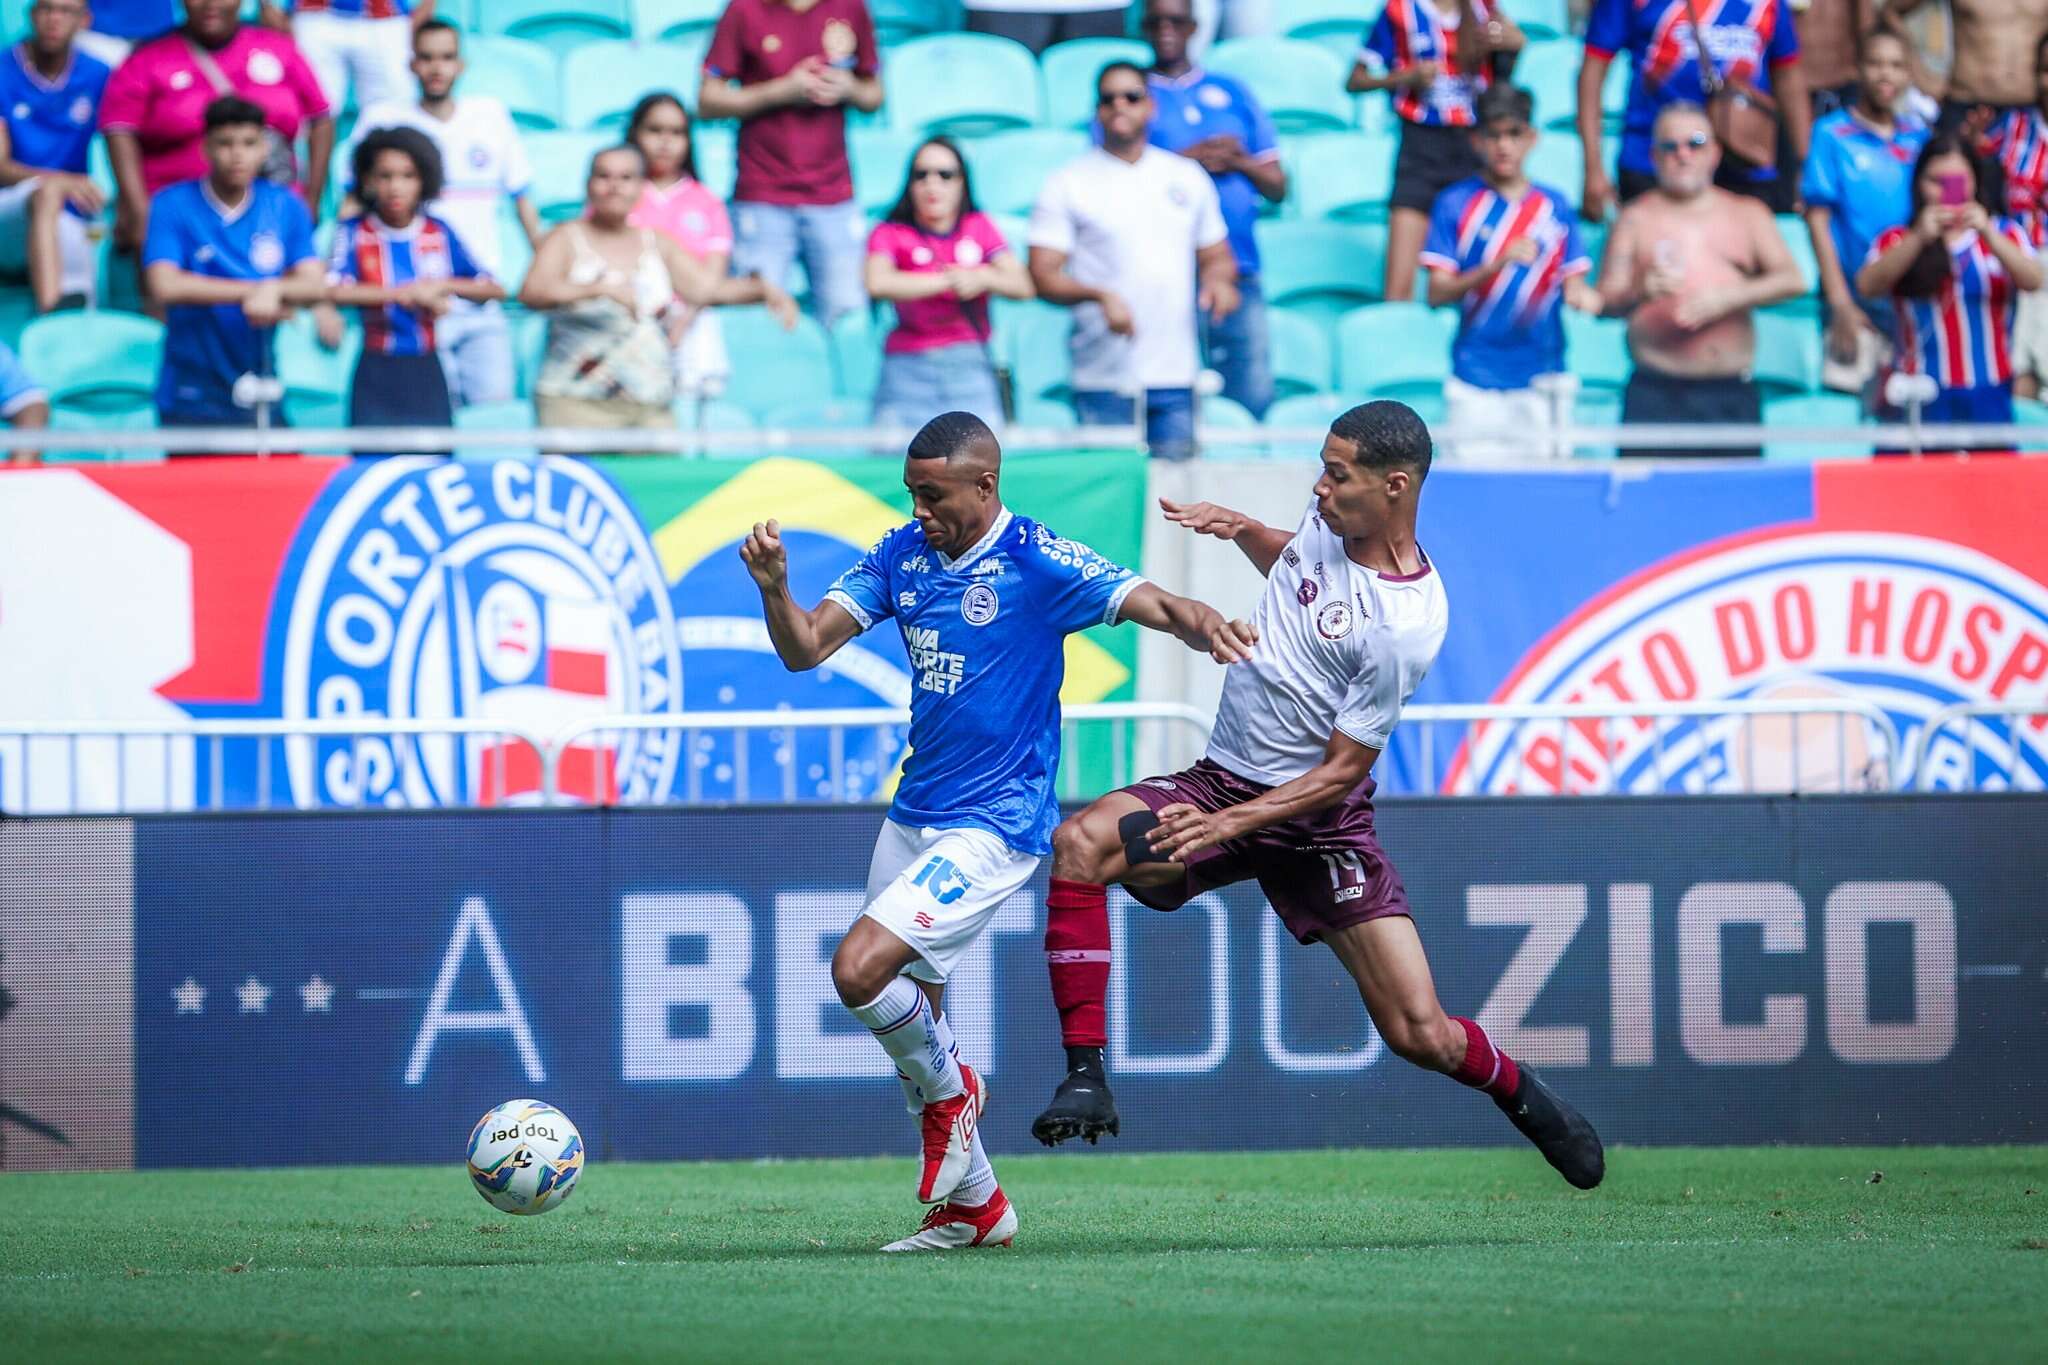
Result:
{"label": "man in white shirt standing behind the curly-haired child", "polygon": [[[532,168],[502,100],[485,94],[455,98],[463,76],[461,33],[455,25],[428,18],[412,39],[412,74],[420,98],[389,100],[362,111],[350,145],[338,158],[342,188],[348,184],[354,143],[373,129],[408,127],[426,133],[440,151],[444,184],[430,209],[463,239],[471,260],[504,280],[504,252],[498,219],[506,201],[518,211],[530,246],[541,244],[541,213],[532,205]],[[350,213],[354,209],[348,209]],[[506,280],[506,287],[516,287]],[[322,327],[340,325],[324,317]],[[512,399],[512,329],[496,303],[453,301],[434,327],[440,364],[449,372],[449,393],[459,407]]]}

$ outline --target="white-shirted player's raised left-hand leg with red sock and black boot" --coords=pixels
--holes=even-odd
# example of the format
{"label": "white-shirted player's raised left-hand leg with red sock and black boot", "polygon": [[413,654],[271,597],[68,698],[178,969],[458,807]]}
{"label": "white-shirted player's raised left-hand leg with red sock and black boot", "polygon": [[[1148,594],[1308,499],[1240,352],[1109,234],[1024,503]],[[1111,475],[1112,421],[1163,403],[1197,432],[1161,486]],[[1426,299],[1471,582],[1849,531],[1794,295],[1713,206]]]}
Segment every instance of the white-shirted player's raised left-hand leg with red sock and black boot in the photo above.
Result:
{"label": "white-shirted player's raised left-hand leg with red sock and black boot", "polygon": [[1067,1078],[1053,1103],[1032,1119],[1030,1134],[1059,1146],[1067,1138],[1114,1138],[1116,1099],[1110,1095],[1102,1048],[1108,1042],[1102,1001],[1110,984],[1108,886],[1163,886],[1186,876],[1180,864],[1130,862],[1133,823],[1155,817],[1130,792],[1110,792],[1053,831],[1053,886],[1044,902],[1044,964],[1067,1048]]}

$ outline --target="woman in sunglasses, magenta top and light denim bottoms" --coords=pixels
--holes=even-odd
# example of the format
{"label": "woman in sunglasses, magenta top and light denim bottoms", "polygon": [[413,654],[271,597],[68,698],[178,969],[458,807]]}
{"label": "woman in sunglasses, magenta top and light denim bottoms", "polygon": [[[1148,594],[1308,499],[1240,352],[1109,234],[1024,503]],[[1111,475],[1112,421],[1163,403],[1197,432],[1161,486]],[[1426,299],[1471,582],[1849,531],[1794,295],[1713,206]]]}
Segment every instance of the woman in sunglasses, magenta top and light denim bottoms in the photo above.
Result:
{"label": "woman in sunglasses, magenta top and light denim bottoms", "polygon": [[989,295],[1030,299],[1030,276],[975,209],[967,162],[946,137],[909,158],[909,180],[868,235],[868,297],[897,305],[874,387],[877,426],[920,428],[942,411],[1004,420],[989,358]]}

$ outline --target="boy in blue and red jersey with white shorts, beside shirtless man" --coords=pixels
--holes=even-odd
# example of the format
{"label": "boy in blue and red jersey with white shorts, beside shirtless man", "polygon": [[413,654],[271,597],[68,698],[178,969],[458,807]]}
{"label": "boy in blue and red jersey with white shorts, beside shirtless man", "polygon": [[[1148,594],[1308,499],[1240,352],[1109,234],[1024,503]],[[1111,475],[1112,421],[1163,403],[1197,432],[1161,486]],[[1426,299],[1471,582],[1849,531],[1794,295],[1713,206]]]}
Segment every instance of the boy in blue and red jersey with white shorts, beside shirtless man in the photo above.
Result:
{"label": "boy in blue and red jersey with white shorts, beside shirtless man", "polygon": [[1593,268],[1577,215],[1559,190],[1522,172],[1536,145],[1528,90],[1479,96],[1473,147],[1479,174],[1438,194],[1421,264],[1430,305],[1456,303],[1458,340],[1444,381],[1452,430],[1520,432],[1520,440],[1460,440],[1462,456],[1538,454],[1550,428],[1550,391],[1565,372],[1563,305],[1599,313],[1585,282]]}

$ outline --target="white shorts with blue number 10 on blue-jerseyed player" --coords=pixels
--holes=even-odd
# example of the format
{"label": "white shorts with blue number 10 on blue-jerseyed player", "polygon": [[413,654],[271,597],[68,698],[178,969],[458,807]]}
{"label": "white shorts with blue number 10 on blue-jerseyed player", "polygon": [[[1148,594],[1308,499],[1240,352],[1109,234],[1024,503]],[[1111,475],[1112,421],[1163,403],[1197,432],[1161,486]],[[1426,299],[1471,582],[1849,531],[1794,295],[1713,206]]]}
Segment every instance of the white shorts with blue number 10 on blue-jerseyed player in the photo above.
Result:
{"label": "white shorts with blue number 10 on blue-jerseyed player", "polygon": [[918,950],[918,980],[942,982],[1030,874],[1036,853],[1018,853],[985,829],[911,829],[883,821],[868,864],[868,919]]}

